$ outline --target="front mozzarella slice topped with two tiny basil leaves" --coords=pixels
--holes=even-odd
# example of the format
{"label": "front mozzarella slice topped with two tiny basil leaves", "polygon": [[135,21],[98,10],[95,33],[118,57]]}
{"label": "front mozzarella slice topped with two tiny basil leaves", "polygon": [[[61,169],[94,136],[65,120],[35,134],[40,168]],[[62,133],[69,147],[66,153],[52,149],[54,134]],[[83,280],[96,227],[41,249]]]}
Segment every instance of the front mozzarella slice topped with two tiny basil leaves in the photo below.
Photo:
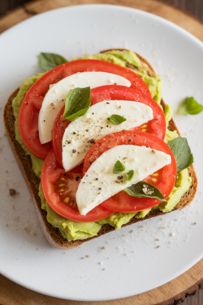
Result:
{"label": "front mozzarella slice topped with two tiny basil leaves", "polygon": [[[117,160],[124,164],[125,170],[113,174]],[[76,192],[80,214],[86,215],[104,200],[170,163],[170,155],[145,146],[119,145],[107,150],[92,163],[80,181]],[[134,170],[131,181],[126,178],[129,170]],[[123,178],[119,179],[121,175]]]}

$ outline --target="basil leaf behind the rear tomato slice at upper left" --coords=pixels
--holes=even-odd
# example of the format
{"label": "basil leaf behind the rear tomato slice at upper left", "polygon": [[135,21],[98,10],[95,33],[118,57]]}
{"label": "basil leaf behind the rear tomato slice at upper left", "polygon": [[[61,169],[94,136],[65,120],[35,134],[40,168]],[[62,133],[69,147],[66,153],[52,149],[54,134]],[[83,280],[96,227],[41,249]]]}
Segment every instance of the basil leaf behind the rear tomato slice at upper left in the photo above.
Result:
{"label": "basil leaf behind the rear tomato slice at upper left", "polygon": [[40,53],[40,66],[44,71],[50,71],[62,63],[67,63],[67,60],[58,54]]}

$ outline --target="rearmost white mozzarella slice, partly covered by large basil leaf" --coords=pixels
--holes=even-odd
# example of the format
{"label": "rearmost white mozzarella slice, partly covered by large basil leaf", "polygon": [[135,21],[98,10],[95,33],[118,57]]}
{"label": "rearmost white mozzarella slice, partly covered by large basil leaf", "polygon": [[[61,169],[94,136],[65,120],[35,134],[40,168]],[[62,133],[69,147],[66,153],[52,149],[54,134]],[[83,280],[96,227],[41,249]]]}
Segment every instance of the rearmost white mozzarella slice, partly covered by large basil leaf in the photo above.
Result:
{"label": "rearmost white mozzarella slice, partly covered by large basil leaf", "polygon": [[91,89],[105,85],[131,86],[126,78],[107,72],[81,72],[63,78],[54,85],[44,97],[39,113],[38,127],[41,144],[51,141],[54,120],[65,103],[66,95],[71,89],[90,87]]}

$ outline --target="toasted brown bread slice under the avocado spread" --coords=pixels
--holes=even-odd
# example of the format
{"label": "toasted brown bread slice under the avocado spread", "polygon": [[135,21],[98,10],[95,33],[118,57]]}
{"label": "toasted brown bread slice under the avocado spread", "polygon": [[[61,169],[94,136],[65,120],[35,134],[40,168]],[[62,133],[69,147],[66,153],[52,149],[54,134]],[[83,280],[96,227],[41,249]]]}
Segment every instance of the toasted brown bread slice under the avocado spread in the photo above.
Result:
{"label": "toasted brown bread slice under the avocado spread", "polygon": [[[105,52],[105,51],[103,51]],[[137,54],[138,55],[138,54]],[[155,76],[155,72],[152,69],[152,67],[149,65],[149,63],[143,59],[141,56],[138,55],[138,57],[141,59],[141,61],[147,66],[147,71],[150,76]],[[10,145],[13,149],[13,152],[16,156],[16,159],[18,161],[19,167],[24,175],[24,178],[27,182],[28,188],[30,190],[30,194],[33,197],[33,201],[37,210],[37,215],[39,218],[40,226],[42,228],[42,231],[47,238],[48,242],[51,246],[58,248],[58,249],[71,249],[77,246],[80,246],[83,242],[87,242],[91,239],[97,238],[103,234],[109,233],[110,231],[114,231],[114,227],[112,227],[110,224],[103,224],[100,231],[98,232],[97,236],[93,236],[87,239],[83,240],[75,240],[68,242],[67,239],[65,239],[58,228],[54,228],[48,221],[47,221],[47,212],[45,210],[41,209],[41,199],[38,196],[39,192],[39,184],[40,179],[37,178],[37,176],[34,174],[32,170],[32,162],[30,159],[30,156],[27,156],[25,151],[22,149],[20,144],[16,141],[15,137],[15,118],[13,116],[13,109],[12,109],[12,99],[17,95],[19,89],[17,89],[15,92],[12,93],[12,95],[9,97],[7,104],[5,105],[4,109],[4,123],[6,132],[9,138]],[[161,104],[163,108],[165,107],[165,104],[163,100],[161,101]],[[173,120],[171,119],[169,122],[169,130],[177,130],[176,125],[174,124]],[[178,130],[177,130],[178,132]],[[178,135],[180,136],[179,132]],[[182,209],[185,206],[187,206],[192,199],[194,198],[194,195],[197,190],[197,177],[194,171],[193,165],[191,165],[188,168],[189,175],[192,178],[192,182],[190,185],[189,190],[181,197],[180,201],[177,203],[177,205],[174,207],[174,210]],[[138,221],[142,221],[151,217],[160,216],[164,213],[157,210],[150,211],[145,217],[143,218],[131,218],[131,220],[127,224],[123,224],[122,227],[125,227],[127,225],[133,224]]]}

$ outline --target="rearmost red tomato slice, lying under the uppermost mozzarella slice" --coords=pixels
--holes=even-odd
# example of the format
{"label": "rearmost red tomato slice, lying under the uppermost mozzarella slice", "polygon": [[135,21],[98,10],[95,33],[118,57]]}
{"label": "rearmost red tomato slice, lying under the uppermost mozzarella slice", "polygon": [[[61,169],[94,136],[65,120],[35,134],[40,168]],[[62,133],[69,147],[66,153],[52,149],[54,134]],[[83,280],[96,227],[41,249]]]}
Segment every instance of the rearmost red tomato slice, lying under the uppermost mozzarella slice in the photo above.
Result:
{"label": "rearmost red tomato slice, lying under the uppermost mozzarella slice", "polygon": [[45,159],[51,150],[51,142],[41,144],[38,135],[38,116],[44,96],[50,84],[77,72],[101,71],[121,75],[131,82],[131,88],[151,96],[149,88],[134,72],[124,67],[96,59],[81,59],[54,68],[41,77],[28,90],[19,113],[19,131],[27,149],[40,159]]}

